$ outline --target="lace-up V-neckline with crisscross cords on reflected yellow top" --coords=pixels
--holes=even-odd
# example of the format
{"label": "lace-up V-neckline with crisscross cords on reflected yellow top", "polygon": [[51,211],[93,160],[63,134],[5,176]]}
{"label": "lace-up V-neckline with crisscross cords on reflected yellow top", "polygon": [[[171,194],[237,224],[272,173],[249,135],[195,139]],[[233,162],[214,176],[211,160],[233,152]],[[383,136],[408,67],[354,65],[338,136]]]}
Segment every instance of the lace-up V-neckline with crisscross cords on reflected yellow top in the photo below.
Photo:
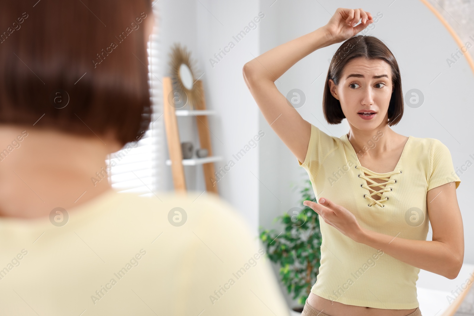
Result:
{"label": "lace-up V-neckline with crisscross cords on reflected yellow top", "polygon": [[[403,150],[401,151],[400,159],[398,160],[397,165],[395,166],[395,169],[392,172],[378,173],[378,172],[373,172],[363,167],[361,163],[359,162],[359,158],[357,157],[356,150],[352,146],[351,142],[349,142],[349,137],[347,136],[347,134],[342,137],[342,140],[346,142],[347,146],[350,149],[352,149],[352,153],[356,157],[355,168],[361,170],[361,173],[357,174],[357,177],[364,179],[366,182],[366,183],[362,183],[360,187],[365,188],[370,193],[370,194],[365,193],[362,195],[362,198],[369,200],[369,203],[367,204],[367,206],[371,207],[373,205],[378,205],[381,208],[385,207],[385,205],[383,205],[383,202],[388,201],[389,196],[383,197],[383,199],[382,199],[382,196],[385,192],[391,192],[393,190],[392,187],[387,188],[388,184],[393,184],[393,183],[398,182],[397,179],[392,179],[392,176],[395,174],[400,174],[402,172],[400,170],[400,164],[402,162],[402,159],[404,158],[405,152],[407,151],[407,147],[409,146],[411,138],[412,136],[408,136],[408,139],[405,142]],[[367,173],[368,175],[366,176],[365,173]],[[372,179],[380,179],[380,180],[383,180],[384,182],[379,183]],[[373,187],[381,187],[383,189],[377,191],[377,190],[374,190]],[[378,195],[380,199],[379,200],[374,199],[373,198],[374,195]]]}

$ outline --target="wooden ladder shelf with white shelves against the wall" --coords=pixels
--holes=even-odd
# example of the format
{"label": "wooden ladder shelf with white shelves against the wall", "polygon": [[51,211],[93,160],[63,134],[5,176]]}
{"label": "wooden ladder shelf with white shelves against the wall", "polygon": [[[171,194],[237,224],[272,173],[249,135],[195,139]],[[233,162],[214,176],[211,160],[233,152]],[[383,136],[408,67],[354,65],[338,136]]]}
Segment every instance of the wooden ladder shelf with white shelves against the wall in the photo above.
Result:
{"label": "wooden ladder shelf with white shelves against the wall", "polygon": [[[202,88],[202,81],[197,80],[194,84],[198,85],[199,88]],[[186,165],[196,165],[202,163],[202,168],[204,172],[204,181],[206,183],[206,191],[213,192],[218,194],[217,182],[215,181],[214,176],[214,161],[220,160],[220,157],[212,156],[212,148],[210,142],[209,134],[209,123],[208,115],[210,111],[206,110],[206,102],[204,99],[204,94],[202,99],[196,102],[194,105],[194,110],[184,111],[178,110],[181,113],[184,113],[185,116],[195,116],[196,123],[199,133],[199,142],[200,148],[205,148],[208,150],[208,157],[183,160],[182,151],[181,151],[181,141],[178,131],[178,121],[176,119],[176,109],[169,103],[168,96],[173,91],[173,84],[170,77],[163,78],[163,115],[164,115],[164,124],[166,129],[166,139],[168,140],[168,150],[170,154],[171,163],[171,172],[173,173],[173,184],[174,190],[176,191],[186,191],[186,180],[184,177],[184,168],[183,163]]]}

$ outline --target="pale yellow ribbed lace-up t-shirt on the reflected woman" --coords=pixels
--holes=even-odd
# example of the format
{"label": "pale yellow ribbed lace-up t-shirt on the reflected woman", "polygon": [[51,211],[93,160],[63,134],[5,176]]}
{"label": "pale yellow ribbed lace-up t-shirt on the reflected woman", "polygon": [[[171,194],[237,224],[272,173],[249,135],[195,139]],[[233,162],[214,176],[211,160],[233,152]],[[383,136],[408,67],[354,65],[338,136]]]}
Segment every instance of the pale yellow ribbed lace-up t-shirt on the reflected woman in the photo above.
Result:
{"label": "pale yellow ribbed lace-up t-shirt on the reflected woman", "polygon": [[[365,152],[374,148],[380,137],[382,132],[374,135]],[[311,124],[308,152],[304,163],[298,163],[308,172],[317,200],[324,197],[343,206],[366,229],[412,240],[427,240],[428,190],[452,181],[457,189],[461,182],[448,148],[434,138],[409,136],[394,171],[375,173],[360,165],[347,135],[330,136]],[[375,181],[373,185],[371,177],[388,183]],[[380,200],[374,199],[374,191],[382,191]],[[322,218],[320,229],[321,266],[312,293],[347,305],[390,309],[419,306],[419,268],[356,243]]]}

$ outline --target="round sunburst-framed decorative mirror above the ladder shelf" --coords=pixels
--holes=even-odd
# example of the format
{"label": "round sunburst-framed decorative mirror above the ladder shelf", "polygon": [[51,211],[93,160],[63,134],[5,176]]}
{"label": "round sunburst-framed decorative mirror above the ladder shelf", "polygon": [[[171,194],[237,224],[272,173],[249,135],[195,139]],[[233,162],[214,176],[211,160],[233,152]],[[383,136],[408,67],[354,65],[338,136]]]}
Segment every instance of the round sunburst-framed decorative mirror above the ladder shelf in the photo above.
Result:
{"label": "round sunburst-framed decorative mirror above the ladder shelf", "polygon": [[199,108],[198,102],[202,100],[202,85],[196,84],[194,73],[195,61],[190,59],[191,53],[187,51],[186,46],[181,47],[179,43],[174,43],[172,51],[169,54],[171,67],[171,78],[173,83],[174,95],[185,94],[182,99],[188,100],[190,109]]}

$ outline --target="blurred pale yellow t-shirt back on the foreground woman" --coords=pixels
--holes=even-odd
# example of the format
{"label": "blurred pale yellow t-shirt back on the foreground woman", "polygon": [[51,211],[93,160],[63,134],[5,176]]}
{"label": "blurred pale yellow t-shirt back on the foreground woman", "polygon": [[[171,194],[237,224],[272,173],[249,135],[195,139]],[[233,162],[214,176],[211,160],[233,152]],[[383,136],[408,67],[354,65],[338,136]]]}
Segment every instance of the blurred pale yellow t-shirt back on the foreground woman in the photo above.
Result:
{"label": "blurred pale yellow t-shirt back on the foreground woman", "polygon": [[0,217],[0,315],[289,316],[258,237],[199,194],[109,190],[67,220]]}

